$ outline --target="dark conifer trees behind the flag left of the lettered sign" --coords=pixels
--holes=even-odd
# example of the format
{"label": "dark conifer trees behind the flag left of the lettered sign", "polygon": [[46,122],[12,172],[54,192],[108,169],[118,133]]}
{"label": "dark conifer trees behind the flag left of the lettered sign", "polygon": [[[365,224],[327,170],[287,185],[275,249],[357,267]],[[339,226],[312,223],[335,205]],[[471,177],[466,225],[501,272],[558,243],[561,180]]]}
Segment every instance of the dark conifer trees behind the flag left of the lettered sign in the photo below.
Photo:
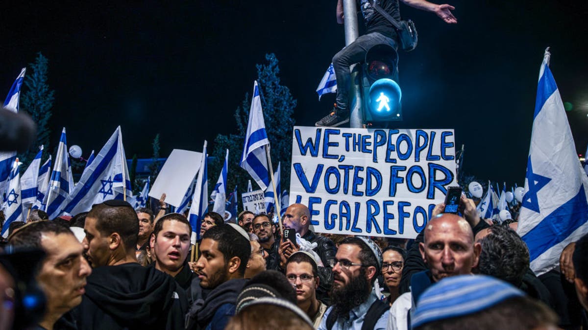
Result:
{"label": "dark conifer trees behind the flag left of the lettered sign", "polygon": [[[278,59],[273,53],[265,55],[265,62],[256,65],[258,72],[258,86],[263,119],[270,142],[272,166],[275,171],[278,163],[282,163],[281,184],[282,189],[290,186],[290,159],[292,158],[292,128],[294,119],[292,113],[296,107],[296,100],[292,97],[286,86],[280,85]],[[235,110],[235,120],[239,134],[218,134],[213,144],[213,161],[209,164],[209,180],[216,182],[220,169],[225,161],[225,150],[229,149],[228,186],[238,186],[240,192],[247,187],[247,181],[251,179],[249,173],[239,166],[243,153],[243,143],[249,122],[249,109],[251,97],[245,93],[245,99]],[[214,185],[209,184],[209,188]],[[255,189],[255,183],[253,183]],[[209,191],[210,193],[210,191]],[[279,191],[279,194],[282,192]]]}

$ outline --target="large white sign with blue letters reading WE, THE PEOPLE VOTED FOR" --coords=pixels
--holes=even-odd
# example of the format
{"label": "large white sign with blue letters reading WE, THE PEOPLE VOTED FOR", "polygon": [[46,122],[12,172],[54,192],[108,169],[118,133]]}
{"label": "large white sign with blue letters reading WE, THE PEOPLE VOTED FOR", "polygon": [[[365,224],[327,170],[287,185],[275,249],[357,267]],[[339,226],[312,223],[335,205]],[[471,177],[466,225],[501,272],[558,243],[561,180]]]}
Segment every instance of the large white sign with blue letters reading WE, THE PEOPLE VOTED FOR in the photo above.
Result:
{"label": "large white sign with blue letters reading WE, THE PEOPLE VOTED FOR", "polygon": [[449,186],[453,130],[294,127],[290,204],[318,233],[415,238]]}

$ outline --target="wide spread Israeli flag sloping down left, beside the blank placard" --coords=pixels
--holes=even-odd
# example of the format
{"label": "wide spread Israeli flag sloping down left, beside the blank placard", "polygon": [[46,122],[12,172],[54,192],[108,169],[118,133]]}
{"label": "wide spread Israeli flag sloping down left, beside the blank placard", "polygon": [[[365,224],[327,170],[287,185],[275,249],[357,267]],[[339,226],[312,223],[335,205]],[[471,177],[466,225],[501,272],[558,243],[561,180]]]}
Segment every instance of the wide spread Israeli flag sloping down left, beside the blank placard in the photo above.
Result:
{"label": "wide spread Israeli flag sloping down left, beside the blank placard", "polygon": [[[74,191],[66,198],[61,210],[49,214],[54,218],[61,213],[78,214],[89,211],[93,204],[105,200],[132,197],[129,170],[126,167],[125,149],[122,146],[121,126],[116,127],[88,170],[82,173]],[[131,204],[132,205],[132,204]]]}

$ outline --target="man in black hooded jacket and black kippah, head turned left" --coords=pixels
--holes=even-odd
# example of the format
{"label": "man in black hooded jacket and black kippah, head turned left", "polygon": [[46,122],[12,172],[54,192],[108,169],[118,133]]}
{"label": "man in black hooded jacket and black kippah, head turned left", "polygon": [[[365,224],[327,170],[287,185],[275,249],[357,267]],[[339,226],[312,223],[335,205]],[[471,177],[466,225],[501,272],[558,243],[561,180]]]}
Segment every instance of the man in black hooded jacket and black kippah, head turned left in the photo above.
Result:
{"label": "man in black hooded jacket and black kippah, head turned left", "polygon": [[188,301],[181,287],[137,263],[139,219],[131,204],[107,200],[86,217],[82,245],[94,267],[76,310],[79,329],[183,329]]}

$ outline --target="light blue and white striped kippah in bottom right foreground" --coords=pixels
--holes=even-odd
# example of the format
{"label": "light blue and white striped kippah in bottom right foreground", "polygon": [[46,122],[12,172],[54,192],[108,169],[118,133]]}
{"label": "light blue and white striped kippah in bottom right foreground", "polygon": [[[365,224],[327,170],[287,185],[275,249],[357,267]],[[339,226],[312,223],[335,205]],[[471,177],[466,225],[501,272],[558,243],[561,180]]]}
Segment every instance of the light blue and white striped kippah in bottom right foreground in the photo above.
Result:
{"label": "light blue and white striped kippah in bottom right foreground", "polygon": [[442,319],[473,314],[523,291],[487,275],[458,275],[444,278],[420,296],[411,316],[412,328]]}

